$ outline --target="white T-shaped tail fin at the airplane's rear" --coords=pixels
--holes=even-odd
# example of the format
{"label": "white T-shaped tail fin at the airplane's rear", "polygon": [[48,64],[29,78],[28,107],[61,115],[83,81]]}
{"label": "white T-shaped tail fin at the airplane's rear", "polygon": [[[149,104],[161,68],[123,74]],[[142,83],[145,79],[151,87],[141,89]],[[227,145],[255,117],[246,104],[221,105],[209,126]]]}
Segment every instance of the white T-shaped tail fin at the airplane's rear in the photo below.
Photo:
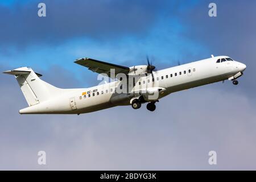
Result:
{"label": "white T-shaped tail fin at the airplane's rear", "polygon": [[47,101],[61,92],[61,89],[41,80],[39,77],[42,75],[35,73],[28,67],[17,68],[3,73],[15,76],[28,106]]}

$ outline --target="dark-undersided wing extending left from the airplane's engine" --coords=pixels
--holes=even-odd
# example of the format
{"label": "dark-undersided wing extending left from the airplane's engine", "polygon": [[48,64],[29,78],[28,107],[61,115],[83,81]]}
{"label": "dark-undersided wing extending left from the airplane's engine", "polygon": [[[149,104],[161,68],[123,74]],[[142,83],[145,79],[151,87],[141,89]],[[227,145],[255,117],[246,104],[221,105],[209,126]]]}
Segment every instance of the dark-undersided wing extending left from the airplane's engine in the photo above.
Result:
{"label": "dark-undersided wing extending left from the airplane's engine", "polygon": [[96,73],[106,73],[110,77],[110,69],[115,69],[115,76],[118,73],[124,73],[127,75],[130,71],[130,68],[123,67],[121,65],[112,64],[112,63],[106,63],[104,61],[98,61],[90,58],[81,58],[77,59],[75,61],[76,64],[80,64],[86,68],[88,68],[90,71],[96,72]]}

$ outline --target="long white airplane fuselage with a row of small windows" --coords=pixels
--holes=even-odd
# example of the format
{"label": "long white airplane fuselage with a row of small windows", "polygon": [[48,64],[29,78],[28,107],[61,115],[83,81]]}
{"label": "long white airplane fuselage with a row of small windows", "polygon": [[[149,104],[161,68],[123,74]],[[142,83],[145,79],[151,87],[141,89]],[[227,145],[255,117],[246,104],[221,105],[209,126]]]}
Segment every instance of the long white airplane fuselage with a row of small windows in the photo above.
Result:
{"label": "long white airplane fuselage with a row of small windows", "polygon": [[[218,59],[227,56],[211,57],[176,67],[152,72],[152,75],[141,76],[133,85],[133,90],[147,88],[164,88],[159,93],[163,98],[170,93],[194,88],[196,86],[212,84],[223,80],[236,80],[245,70],[245,64],[238,61],[224,61],[216,63]],[[140,66],[137,66],[138,68]],[[143,66],[141,66],[143,67]],[[236,77],[234,77],[236,76]],[[90,113],[114,106],[131,105],[131,99],[141,93],[116,93],[115,89],[123,81],[117,80],[91,88],[69,89],[60,92],[55,98],[32,105],[19,111],[20,114],[81,114]]]}

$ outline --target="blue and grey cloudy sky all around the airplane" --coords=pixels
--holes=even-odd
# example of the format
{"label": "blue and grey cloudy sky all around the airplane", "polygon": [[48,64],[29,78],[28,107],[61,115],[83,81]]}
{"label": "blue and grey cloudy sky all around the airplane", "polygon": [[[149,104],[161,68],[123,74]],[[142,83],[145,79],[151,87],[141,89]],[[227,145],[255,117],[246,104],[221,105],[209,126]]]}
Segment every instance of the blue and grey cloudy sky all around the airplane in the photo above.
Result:
{"label": "blue and grey cloudy sky all around the airplane", "polygon": [[[46,3],[44,18],[38,3]],[[210,18],[208,5],[217,4]],[[81,115],[20,115],[26,100],[0,76],[0,169],[256,169],[256,1],[1,1],[0,69],[32,67],[60,88],[97,84],[74,64],[92,57],[158,68],[228,55],[240,84],[173,93],[142,106]],[[38,151],[47,165],[38,165]],[[217,152],[217,165],[208,152]]]}

